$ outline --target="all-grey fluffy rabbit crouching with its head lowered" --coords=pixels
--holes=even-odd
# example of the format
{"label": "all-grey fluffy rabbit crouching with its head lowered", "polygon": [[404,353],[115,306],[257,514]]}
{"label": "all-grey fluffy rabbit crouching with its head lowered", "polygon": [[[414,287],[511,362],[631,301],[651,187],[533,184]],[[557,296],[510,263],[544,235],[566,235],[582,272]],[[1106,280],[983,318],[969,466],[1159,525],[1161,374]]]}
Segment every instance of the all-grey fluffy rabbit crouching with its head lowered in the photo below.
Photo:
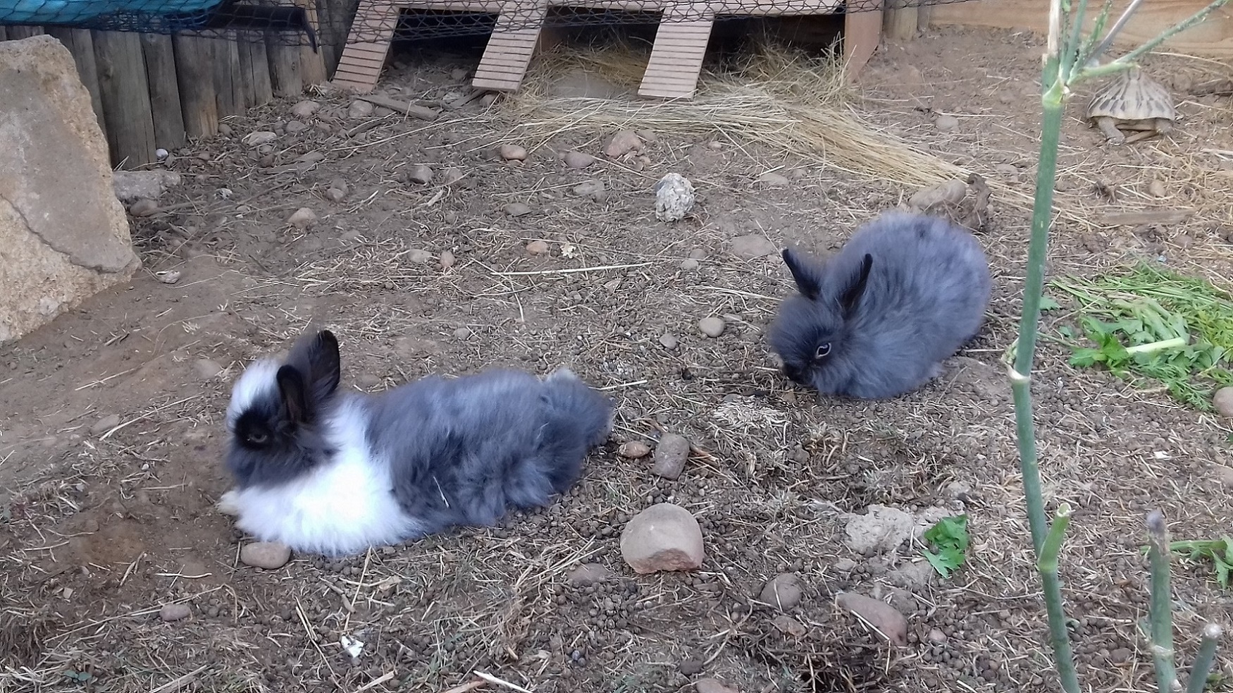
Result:
{"label": "all-grey fluffy rabbit crouching with its head lowered", "polygon": [[887,212],[825,261],[783,250],[798,295],[768,339],[790,380],[819,396],[890,398],[941,374],[980,330],[989,260],[967,231]]}

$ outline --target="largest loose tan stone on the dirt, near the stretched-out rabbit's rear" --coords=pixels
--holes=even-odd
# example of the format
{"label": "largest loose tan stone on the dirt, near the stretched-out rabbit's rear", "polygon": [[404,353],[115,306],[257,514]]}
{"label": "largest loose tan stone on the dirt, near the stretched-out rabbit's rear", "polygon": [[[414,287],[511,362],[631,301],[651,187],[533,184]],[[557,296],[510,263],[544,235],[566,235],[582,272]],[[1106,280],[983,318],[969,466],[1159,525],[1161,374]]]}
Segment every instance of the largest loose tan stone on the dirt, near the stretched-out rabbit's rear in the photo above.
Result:
{"label": "largest loose tan stone on the dirt, near the stretched-out rabbit's rear", "polygon": [[681,506],[657,503],[625,524],[620,554],[639,575],[695,570],[705,557],[702,527]]}

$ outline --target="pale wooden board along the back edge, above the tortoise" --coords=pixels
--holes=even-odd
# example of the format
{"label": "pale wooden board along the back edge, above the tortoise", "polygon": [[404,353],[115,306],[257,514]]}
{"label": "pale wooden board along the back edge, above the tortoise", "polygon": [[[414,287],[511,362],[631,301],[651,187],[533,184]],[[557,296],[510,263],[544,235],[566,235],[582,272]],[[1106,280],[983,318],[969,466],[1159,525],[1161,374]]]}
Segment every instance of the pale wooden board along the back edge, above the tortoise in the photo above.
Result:
{"label": "pale wooden board along the back edge, above the tortoise", "polygon": [[[1113,18],[1129,4],[1115,0]],[[1095,18],[1101,2],[1088,4],[1088,26]],[[1163,27],[1185,20],[1207,6],[1207,0],[1152,0],[1143,2],[1122,30],[1120,43],[1134,46],[1154,37]],[[930,7],[932,26],[964,25],[996,28],[1020,28],[1044,33],[1048,28],[1048,0],[969,0],[967,2],[935,5]],[[1233,57],[1233,5],[1212,12],[1206,21],[1164,42],[1170,51],[1197,53],[1217,58]]]}

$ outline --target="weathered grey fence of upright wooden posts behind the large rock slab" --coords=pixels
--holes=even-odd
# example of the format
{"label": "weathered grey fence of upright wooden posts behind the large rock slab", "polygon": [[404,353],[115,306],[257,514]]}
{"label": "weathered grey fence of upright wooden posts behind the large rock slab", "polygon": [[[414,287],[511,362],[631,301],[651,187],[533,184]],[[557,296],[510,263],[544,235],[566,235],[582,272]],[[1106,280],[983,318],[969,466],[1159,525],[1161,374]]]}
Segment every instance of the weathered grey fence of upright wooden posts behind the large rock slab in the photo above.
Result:
{"label": "weathered grey fence of upright wooden posts behind the large rock slab", "polygon": [[[99,126],[107,137],[113,166],[136,168],[157,160],[189,139],[218,133],[219,118],[296,96],[328,80],[346,41],[345,23],[332,0],[329,23],[318,31],[318,52],[289,46],[282,36],[234,31],[211,36],[136,33],[81,28],[0,26],[0,41],[48,33],[73,54],[90,91]],[[314,28],[316,0],[296,0]]]}

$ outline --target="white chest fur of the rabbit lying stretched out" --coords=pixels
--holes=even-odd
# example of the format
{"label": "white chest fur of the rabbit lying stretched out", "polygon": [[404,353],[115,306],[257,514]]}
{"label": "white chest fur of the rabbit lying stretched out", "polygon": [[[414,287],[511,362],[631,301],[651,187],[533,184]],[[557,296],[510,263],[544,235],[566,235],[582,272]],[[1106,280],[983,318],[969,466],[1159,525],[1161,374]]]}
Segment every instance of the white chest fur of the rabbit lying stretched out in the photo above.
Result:
{"label": "white chest fur of the rabbit lying stretched out", "polygon": [[236,525],[261,541],[329,556],[423,534],[395,499],[388,466],[369,454],[364,412],[344,403],[326,429],[333,460],[289,483],[228,491],[219,511],[236,511]]}

